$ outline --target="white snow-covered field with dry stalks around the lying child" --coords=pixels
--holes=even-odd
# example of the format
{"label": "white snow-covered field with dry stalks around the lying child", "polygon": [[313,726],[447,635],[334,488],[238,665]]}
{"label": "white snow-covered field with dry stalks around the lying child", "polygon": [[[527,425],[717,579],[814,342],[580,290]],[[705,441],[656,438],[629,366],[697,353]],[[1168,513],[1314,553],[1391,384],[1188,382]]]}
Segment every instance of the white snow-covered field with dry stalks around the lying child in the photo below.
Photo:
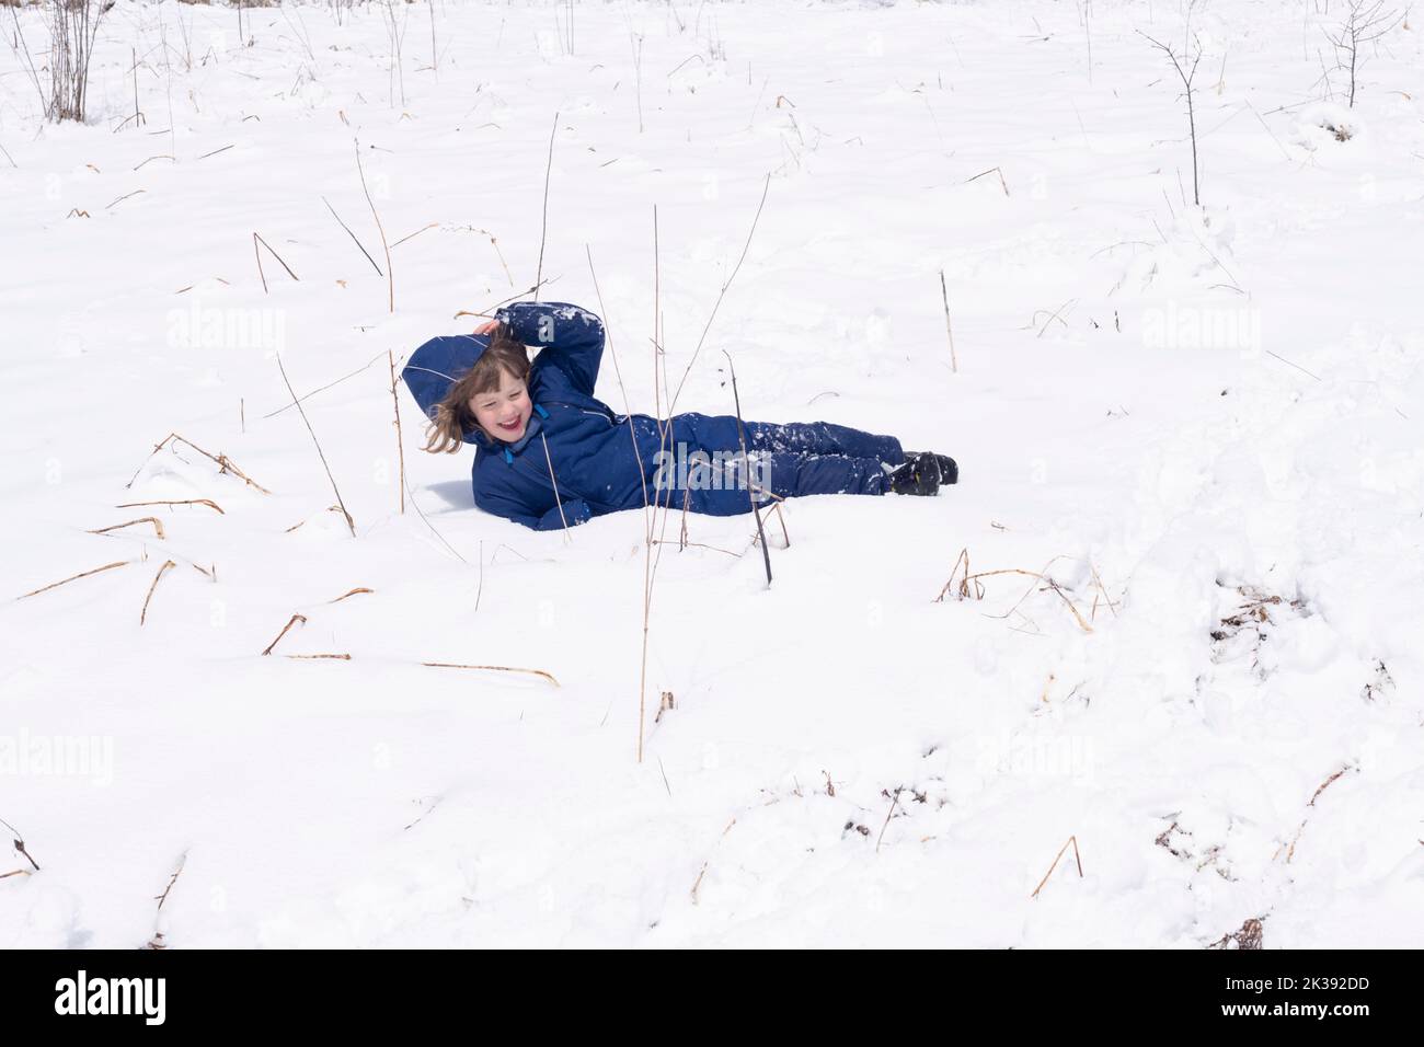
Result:
{"label": "white snow-covered field with dry stalks around the lying child", "polygon": [[[1424,940],[1424,16],[1350,110],[1339,0],[568,10],[120,0],[85,125],[0,10],[0,943]],[[402,514],[387,352],[543,254],[654,413],[763,189],[678,410],[961,483],[770,587],[691,517],[638,762],[644,516],[476,510],[400,387]]]}

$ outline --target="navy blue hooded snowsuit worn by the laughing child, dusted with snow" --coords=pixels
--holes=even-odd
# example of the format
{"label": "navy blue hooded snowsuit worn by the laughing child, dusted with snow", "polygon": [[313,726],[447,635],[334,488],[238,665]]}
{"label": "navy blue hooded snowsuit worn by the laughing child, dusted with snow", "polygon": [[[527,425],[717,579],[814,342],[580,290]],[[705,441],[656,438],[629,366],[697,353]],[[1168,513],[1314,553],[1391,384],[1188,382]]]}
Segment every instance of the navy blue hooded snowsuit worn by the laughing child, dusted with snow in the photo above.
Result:
{"label": "navy blue hooded snowsuit worn by the laughing child, dusted with snow", "polygon": [[[513,443],[478,427],[464,440],[476,446],[474,504],[527,527],[571,527],[649,501],[733,516],[750,511],[753,497],[760,506],[773,496],[883,494],[881,463],[904,462],[894,437],[827,422],[746,422],[745,462],[735,415],[675,415],[665,436],[666,420],[617,415],[594,399],[604,352],[598,316],[567,302],[515,302],[496,318],[540,346],[527,382],[534,412]],[[488,342],[451,335],[416,349],[402,377],[427,417]]]}

